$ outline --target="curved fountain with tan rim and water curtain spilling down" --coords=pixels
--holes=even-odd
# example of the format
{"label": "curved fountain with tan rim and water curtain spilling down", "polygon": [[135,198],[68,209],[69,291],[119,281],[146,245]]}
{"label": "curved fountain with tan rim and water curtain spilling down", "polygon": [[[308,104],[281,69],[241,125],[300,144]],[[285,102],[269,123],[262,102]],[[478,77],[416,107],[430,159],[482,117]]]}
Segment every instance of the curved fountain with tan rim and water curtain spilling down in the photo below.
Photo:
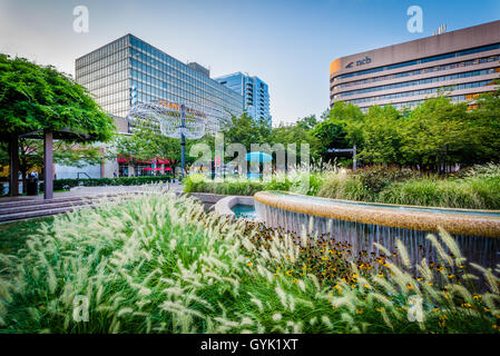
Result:
{"label": "curved fountain with tan rim and water curtain spilling down", "polygon": [[326,199],[283,191],[255,194],[255,210],[267,227],[297,235],[330,236],[352,246],[353,255],[364,250],[379,254],[374,243],[390,251],[396,239],[408,249],[411,261],[437,259],[432,243],[425,238],[450,233],[468,261],[484,267],[500,264],[500,211],[427,208]]}

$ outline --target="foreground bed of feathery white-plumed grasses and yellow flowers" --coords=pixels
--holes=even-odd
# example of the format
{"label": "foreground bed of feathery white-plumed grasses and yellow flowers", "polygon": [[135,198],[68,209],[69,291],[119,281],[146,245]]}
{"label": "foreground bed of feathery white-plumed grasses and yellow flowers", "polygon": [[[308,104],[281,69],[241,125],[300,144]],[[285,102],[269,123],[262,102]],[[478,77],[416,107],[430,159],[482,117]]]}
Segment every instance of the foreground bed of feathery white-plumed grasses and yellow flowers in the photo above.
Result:
{"label": "foreground bed of feathery white-plumed grasses and yellow flowers", "polygon": [[[13,228],[13,227],[12,227]],[[498,270],[451,253],[350,256],[314,235],[206,214],[166,194],[56,216],[0,255],[4,333],[498,333]],[[471,275],[484,276],[474,291]],[[88,301],[88,322],[73,318]],[[416,314],[414,313],[418,307]],[[419,309],[421,306],[421,309]],[[421,314],[420,310],[422,312]],[[409,317],[413,316],[413,317]]]}

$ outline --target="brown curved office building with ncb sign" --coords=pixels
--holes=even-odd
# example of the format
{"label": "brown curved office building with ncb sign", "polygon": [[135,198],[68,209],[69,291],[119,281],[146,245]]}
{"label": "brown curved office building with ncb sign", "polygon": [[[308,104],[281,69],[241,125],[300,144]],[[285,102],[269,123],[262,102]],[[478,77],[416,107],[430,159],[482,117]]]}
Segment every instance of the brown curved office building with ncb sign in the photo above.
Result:
{"label": "brown curved office building with ncb sign", "polygon": [[472,100],[497,88],[499,75],[500,21],[493,21],[335,59],[330,106],[413,107],[440,89],[453,101]]}

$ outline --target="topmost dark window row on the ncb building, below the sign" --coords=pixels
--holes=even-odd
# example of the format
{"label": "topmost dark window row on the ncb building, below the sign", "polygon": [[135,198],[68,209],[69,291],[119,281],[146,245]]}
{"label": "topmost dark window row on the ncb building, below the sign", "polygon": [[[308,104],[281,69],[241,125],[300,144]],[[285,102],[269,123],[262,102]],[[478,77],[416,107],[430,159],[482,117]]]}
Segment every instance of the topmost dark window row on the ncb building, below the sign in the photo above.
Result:
{"label": "topmost dark window row on the ncb building, below the sign", "polygon": [[381,76],[381,77],[366,78],[366,79],[355,80],[355,81],[350,81],[350,82],[343,82],[343,83],[332,87],[332,89],[335,90],[335,89],[342,89],[342,88],[350,88],[350,87],[367,85],[367,83],[376,82],[376,81],[392,80],[392,79],[419,76],[419,75],[427,75],[427,73],[431,73],[434,71],[442,71],[442,70],[449,70],[449,69],[454,69],[454,68],[460,68],[460,67],[477,66],[477,65],[482,65],[482,63],[488,63],[488,62],[498,62],[498,61],[500,61],[500,56],[477,58],[477,59],[465,60],[465,61],[455,62],[455,63],[435,66],[435,67],[416,69],[416,70],[411,70],[411,71],[403,71],[400,73],[394,73],[394,75],[389,75],[389,76]]}

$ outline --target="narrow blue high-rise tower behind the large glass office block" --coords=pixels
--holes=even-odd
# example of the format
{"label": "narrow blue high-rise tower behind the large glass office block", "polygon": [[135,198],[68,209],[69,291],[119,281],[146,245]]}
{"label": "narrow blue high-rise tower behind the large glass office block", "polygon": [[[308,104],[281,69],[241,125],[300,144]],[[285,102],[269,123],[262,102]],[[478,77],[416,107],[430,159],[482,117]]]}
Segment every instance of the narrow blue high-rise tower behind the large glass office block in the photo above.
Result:
{"label": "narrow blue high-rise tower behind the large glass office block", "polygon": [[262,119],[271,126],[269,88],[264,81],[242,72],[218,77],[215,80],[242,95],[245,110],[254,119]]}

